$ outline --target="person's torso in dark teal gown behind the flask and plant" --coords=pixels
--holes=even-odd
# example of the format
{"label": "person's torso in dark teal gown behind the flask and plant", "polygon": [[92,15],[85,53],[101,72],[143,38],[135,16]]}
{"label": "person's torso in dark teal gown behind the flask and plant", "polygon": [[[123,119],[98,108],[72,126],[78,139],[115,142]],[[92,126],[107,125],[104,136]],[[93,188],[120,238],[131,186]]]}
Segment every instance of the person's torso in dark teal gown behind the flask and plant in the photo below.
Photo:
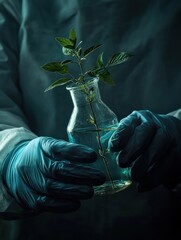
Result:
{"label": "person's torso in dark teal gown behind the flask and plant", "polygon": [[[180,5],[177,1],[22,0],[20,86],[31,129],[37,135],[67,138],[69,92],[63,86],[44,93],[58,75],[41,66],[64,59],[54,39],[66,37],[71,28],[85,46],[103,43],[105,59],[118,51],[135,55],[111,69],[115,86],[100,84],[102,99],[119,119],[135,109],[167,113],[180,108]],[[39,216],[24,226],[27,239],[161,239],[159,234],[167,233],[175,215],[169,191],[160,187],[138,194],[132,185],[119,194],[85,201],[75,213]]]}

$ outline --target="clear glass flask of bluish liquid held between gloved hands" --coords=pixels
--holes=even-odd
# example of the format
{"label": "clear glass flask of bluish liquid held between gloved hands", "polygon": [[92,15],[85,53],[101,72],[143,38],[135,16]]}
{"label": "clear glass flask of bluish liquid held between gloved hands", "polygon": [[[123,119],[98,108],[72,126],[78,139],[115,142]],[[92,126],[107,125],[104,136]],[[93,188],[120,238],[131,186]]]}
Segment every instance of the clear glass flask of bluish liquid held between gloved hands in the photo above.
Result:
{"label": "clear glass flask of bluish liquid held between gloved hands", "polygon": [[87,145],[97,152],[98,158],[90,166],[104,172],[106,182],[94,187],[94,194],[105,195],[125,189],[131,180],[130,169],[120,168],[116,163],[118,153],[108,149],[108,140],[118,126],[118,119],[101,100],[98,81],[93,78],[86,84],[66,87],[74,105],[67,133],[70,142]]}

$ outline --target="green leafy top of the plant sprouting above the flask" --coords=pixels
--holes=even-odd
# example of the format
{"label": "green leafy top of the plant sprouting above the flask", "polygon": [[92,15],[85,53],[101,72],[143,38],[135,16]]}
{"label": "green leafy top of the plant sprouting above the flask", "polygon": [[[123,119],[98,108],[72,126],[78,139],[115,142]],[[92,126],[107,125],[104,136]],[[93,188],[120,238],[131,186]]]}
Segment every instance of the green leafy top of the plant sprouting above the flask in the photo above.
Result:
{"label": "green leafy top of the plant sprouting above the flask", "polygon": [[[98,55],[97,60],[95,61],[95,66],[92,66],[88,70],[84,70],[84,62],[87,60],[87,57],[102,47],[102,44],[96,44],[84,50],[81,47],[82,41],[77,43],[77,34],[75,29],[70,30],[68,38],[56,37],[55,40],[61,45],[63,54],[70,56],[71,59],[65,59],[60,62],[50,62],[42,66],[42,68],[46,71],[56,72],[60,75],[66,75],[64,78],[56,80],[48,88],[46,88],[46,92],[70,82],[79,85],[86,84],[86,79],[88,76],[98,77],[103,82],[113,85],[114,80],[108,71],[108,68],[126,62],[128,59],[133,57],[131,53],[120,52],[112,55],[108,62],[104,64],[104,52],[102,52]],[[75,67],[80,69],[78,76],[74,76],[74,74],[70,71],[68,67],[69,64],[74,64]]]}

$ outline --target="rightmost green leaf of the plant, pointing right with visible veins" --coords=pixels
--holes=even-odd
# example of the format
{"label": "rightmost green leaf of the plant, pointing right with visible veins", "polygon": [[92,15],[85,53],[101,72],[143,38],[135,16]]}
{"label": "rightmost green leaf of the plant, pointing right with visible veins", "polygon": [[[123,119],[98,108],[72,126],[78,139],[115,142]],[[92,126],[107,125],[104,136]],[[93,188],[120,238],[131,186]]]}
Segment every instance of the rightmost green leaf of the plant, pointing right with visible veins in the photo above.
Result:
{"label": "rightmost green leaf of the plant, pointing right with visible veins", "polygon": [[126,53],[126,52],[116,53],[109,59],[106,66],[110,67],[110,66],[121,64],[127,61],[131,57],[133,57],[133,55],[130,53]]}

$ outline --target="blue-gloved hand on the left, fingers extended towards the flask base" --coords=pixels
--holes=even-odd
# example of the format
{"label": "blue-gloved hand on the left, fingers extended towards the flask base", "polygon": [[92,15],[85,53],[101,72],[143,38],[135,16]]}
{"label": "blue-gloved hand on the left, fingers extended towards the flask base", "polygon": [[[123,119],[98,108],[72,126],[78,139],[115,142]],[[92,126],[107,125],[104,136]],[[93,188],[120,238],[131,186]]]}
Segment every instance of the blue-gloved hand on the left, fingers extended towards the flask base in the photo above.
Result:
{"label": "blue-gloved hand on the left, fingers extended towards the flask base", "polygon": [[24,208],[74,211],[81,199],[93,195],[93,185],[105,181],[101,172],[82,164],[96,158],[89,147],[38,137],[22,142],[10,153],[3,167],[3,180]]}

